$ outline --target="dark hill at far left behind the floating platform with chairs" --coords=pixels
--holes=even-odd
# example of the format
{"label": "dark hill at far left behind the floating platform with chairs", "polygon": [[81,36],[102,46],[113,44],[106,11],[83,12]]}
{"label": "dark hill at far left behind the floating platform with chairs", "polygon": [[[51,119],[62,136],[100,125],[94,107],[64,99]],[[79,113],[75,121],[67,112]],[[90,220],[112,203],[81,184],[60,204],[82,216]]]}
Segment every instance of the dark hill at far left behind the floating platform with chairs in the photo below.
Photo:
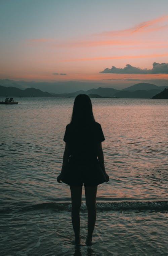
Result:
{"label": "dark hill at far left behind the floating platform with chairs", "polygon": [[53,97],[52,94],[47,93],[47,92],[42,92],[39,89],[35,88],[27,88],[25,90],[21,90],[16,87],[5,87],[0,85],[0,96],[5,96],[5,97]]}

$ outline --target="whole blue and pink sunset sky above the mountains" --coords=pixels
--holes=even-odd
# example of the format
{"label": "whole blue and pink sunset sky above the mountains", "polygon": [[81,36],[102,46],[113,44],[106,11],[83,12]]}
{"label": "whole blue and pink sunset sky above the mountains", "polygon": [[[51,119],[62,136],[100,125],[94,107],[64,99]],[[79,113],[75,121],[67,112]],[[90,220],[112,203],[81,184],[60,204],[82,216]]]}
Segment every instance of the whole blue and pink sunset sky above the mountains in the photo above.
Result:
{"label": "whole blue and pink sunset sky above the mountains", "polygon": [[168,85],[167,0],[0,0],[0,35],[0,79]]}

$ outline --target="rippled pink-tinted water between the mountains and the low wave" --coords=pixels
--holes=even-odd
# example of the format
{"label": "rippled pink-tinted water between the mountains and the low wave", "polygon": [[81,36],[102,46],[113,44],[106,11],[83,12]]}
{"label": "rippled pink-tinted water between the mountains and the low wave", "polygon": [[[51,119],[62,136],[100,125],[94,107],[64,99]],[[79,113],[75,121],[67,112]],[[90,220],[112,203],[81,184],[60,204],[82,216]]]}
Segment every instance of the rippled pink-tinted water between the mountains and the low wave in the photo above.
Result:
{"label": "rippled pink-tinted water between the mountains and the low wave", "polygon": [[[16,99],[17,100],[17,99]],[[69,198],[57,184],[74,99],[19,98],[1,108],[1,169],[4,200]],[[110,182],[97,197],[167,199],[167,100],[92,99]],[[11,191],[8,193],[7,191]],[[13,195],[14,191],[14,195]]]}

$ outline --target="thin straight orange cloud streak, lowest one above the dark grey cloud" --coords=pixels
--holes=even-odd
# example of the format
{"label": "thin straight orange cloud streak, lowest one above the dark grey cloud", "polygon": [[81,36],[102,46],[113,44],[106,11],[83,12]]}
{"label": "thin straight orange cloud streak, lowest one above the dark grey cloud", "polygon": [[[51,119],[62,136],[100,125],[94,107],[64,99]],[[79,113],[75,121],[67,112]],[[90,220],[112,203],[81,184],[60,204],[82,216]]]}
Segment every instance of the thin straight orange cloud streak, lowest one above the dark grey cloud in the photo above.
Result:
{"label": "thin straight orange cloud streak, lowest one above the dark grey cloud", "polygon": [[119,60],[119,59],[141,59],[141,58],[166,57],[166,56],[168,56],[168,53],[152,53],[152,54],[140,54],[140,55],[124,55],[124,56],[109,56],[109,57],[70,59],[70,60],[60,60],[59,62]]}

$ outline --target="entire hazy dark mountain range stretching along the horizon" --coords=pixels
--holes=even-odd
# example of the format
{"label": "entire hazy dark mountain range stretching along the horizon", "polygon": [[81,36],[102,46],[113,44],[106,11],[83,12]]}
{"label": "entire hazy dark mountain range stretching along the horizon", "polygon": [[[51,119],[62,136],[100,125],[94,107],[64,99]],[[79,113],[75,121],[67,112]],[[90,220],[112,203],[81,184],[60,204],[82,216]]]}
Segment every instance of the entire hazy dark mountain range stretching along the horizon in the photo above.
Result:
{"label": "entire hazy dark mountain range stretching along the horizon", "polygon": [[36,88],[19,89],[13,86],[1,86],[0,96],[13,97],[76,97],[78,94],[87,94],[91,98],[152,98],[161,93],[167,86],[157,86],[150,83],[138,83],[122,90],[114,88],[99,87],[89,90],[78,90],[74,93],[55,94],[43,92]]}

